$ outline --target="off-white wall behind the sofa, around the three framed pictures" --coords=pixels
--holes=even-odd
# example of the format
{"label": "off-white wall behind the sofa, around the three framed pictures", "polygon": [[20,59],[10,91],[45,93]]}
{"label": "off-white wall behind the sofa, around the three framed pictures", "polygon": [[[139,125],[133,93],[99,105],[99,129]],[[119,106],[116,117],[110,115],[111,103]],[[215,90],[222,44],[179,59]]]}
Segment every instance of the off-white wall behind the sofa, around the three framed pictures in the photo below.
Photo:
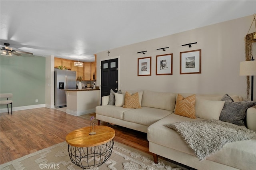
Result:
{"label": "off-white wall behind the sofa, around the three framed pictures", "polygon": [[[119,83],[122,91],[148,89],[175,93],[228,93],[241,95],[246,99],[246,77],[239,75],[239,66],[240,61],[245,60],[244,37],[252,20],[253,16],[246,16],[146,42],[117,47],[110,49],[109,56],[107,51],[97,53],[97,86],[101,82],[100,61],[120,56]],[[251,32],[255,32],[254,27],[250,30]],[[192,45],[191,48],[181,46],[193,42],[197,44]],[[253,54],[256,57],[255,44]],[[169,48],[166,51],[156,50],[162,47]],[[180,52],[195,49],[202,49],[202,73],[180,75]],[[137,54],[139,51],[146,50],[148,52],[145,55]],[[156,75],[156,55],[167,53],[173,53],[173,74]],[[149,56],[152,57],[151,76],[137,76],[138,58]]]}

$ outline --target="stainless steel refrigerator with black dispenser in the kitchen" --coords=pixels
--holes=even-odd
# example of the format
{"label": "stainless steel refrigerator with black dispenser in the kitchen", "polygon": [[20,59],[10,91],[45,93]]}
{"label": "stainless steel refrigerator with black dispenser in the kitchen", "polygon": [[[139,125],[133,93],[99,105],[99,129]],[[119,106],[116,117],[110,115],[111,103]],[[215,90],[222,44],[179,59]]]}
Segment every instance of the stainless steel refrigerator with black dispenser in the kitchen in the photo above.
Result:
{"label": "stainless steel refrigerator with black dispenser in the kitchen", "polygon": [[54,71],[54,105],[55,108],[66,107],[66,91],[76,89],[76,71],[55,69]]}

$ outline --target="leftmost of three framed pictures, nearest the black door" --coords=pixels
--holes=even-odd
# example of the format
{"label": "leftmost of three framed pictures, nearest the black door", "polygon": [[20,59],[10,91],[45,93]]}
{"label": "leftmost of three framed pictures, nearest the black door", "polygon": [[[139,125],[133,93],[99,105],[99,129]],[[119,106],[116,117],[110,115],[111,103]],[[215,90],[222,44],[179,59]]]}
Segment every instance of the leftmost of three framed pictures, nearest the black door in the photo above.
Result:
{"label": "leftmost of three framed pictures, nearest the black door", "polygon": [[151,75],[151,57],[138,58],[138,76]]}

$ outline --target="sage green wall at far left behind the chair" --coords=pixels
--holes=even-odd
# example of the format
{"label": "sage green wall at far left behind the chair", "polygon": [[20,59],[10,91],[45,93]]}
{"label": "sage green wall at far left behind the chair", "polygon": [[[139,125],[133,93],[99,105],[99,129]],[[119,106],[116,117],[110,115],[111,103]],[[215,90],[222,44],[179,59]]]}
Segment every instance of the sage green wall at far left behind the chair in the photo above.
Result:
{"label": "sage green wall at far left behind the chair", "polygon": [[0,93],[13,94],[12,107],[45,104],[45,63],[36,55],[0,55]]}

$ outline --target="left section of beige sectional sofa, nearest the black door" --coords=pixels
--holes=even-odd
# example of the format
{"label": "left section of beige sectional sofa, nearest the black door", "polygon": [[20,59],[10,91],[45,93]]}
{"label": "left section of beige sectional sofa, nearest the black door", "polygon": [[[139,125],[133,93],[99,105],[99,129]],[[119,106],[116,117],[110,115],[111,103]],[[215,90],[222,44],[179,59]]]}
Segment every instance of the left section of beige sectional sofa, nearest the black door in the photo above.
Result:
{"label": "left section of beige sectional sofa, nearest the black door", "polygon": [[[128,92],[136,93],[136,91]],[[154,98],[151,99],[147,97],[150,92],[144,92],[138,91],[141,109],[123,108],[119,104],[118,106],[108,105],[109,96],[102,97],[102,106],[96,107],[96,119],[147,133],[150,125],[174,112],[176,94],[152,92]],[[122,99],[116,98],[116,103],[124,101],[124,94],[120,98]],[[170,101],[173,102],[170,103]]]}

